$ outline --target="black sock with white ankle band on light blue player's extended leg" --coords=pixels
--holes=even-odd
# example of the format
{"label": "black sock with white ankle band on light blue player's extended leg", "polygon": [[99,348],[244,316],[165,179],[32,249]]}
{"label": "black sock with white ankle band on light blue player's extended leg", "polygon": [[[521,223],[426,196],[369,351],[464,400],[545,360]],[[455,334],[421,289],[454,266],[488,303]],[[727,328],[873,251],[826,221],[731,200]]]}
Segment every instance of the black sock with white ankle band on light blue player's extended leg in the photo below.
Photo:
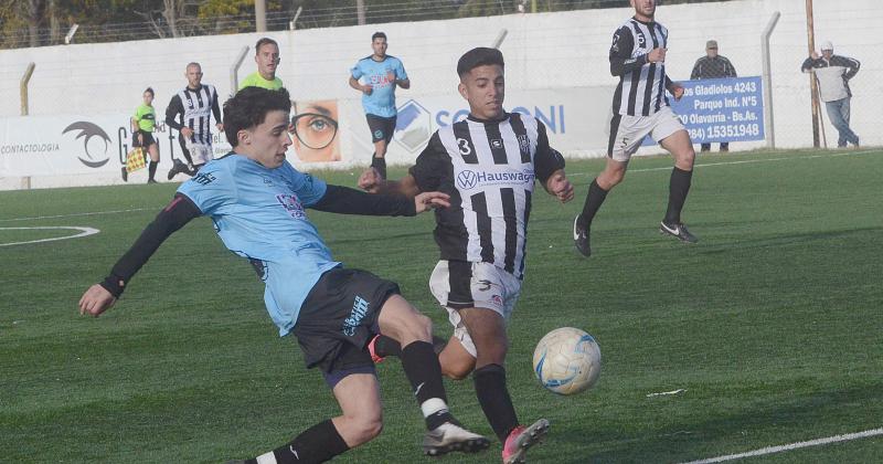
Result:
{"label": "black sock with white ankle band on light blue player's extended leg", "polygon": [[414,389],[414,397],[426,418],[426,428],[433,430],[454,418],[448,412],[447,394],[442,383],[442,365],[433,345],[414,341],[402,348],[402,368]]}

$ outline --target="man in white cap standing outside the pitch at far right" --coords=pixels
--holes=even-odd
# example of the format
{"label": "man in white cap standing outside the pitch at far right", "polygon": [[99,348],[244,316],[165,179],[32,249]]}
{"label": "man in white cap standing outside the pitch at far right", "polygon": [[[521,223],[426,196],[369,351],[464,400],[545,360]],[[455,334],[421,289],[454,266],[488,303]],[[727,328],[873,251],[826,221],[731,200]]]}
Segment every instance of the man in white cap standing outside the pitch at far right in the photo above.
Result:
{"label": "man in white cap standing outside the pitch at far right", "polygon": [[837,139],[837,146],[840,148],[845,147],[847,143],[859,146],[859,136],[849,127],[849,103],[852,98],[849,80],[859,73],[860,66],[861,63],[855,59],[836,55],[831,41],[822,42],[821,56],[813,51],[800,66],[800,71],[816,74],[828,118],[840,133]]}

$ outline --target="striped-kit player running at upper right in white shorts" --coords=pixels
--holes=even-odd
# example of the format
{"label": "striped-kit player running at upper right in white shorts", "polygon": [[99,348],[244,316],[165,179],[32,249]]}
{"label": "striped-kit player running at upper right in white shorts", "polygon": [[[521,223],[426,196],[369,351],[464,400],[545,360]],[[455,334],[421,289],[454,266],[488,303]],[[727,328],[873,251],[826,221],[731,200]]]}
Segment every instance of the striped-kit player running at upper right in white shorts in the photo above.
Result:
{"label": "striped-kit player running at upper right in white shorts", "polygon": [[635,17],[614,33],[610,45],[610,74],[619,76],[614,94],[614,117],[607,145],[607,166],[588,187],[583,212],[573,222],[576,249],[589,256],[589,229],[607,192],[623,181],[631,155],[648,135],[674,156],[669,183],[669,202],[659,231],[683,242],[694,243],[695,235],[681,222],[681,210],[693,176],[693,150],[690,136],[669,106],[666,91],[675,99],[683,87],[666,75],[669,32],[656,22],[656,0],[631,0]]}

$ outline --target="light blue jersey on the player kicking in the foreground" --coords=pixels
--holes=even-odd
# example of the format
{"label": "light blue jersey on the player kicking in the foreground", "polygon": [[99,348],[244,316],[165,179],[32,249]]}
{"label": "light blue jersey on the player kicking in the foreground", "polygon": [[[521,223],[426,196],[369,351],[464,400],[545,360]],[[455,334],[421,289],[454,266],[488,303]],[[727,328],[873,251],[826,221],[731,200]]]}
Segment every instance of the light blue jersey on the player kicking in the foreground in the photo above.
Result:
{"label": "light blue jersey on the player kicking in the foreground", "polygon": [[322,273],[340,265],[305,212],[326,189],[323,181],[287,161],[267,169],[235,154],[209,161],[178,189],[212,218],[230,251],[252,260],[266,284],[264,303],[280,336],[295,327]]}

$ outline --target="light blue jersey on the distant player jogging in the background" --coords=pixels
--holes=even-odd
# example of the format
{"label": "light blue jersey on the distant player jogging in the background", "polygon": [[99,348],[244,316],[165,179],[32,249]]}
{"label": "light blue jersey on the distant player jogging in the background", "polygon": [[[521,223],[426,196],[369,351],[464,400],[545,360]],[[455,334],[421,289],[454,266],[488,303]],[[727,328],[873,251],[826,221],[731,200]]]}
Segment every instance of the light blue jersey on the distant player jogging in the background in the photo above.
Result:
{"label": "light blue jersey on the distant player jogging in the background", "polygon": [[362,107],[366,114],[380,117],[395,116],[395,81],[407,78],[401,60],[391,55],[386,55],[383,61],[374,61],[371,56],[364,57],[353,66],[352,76],[372,87],[371,95],[362,94]]}

